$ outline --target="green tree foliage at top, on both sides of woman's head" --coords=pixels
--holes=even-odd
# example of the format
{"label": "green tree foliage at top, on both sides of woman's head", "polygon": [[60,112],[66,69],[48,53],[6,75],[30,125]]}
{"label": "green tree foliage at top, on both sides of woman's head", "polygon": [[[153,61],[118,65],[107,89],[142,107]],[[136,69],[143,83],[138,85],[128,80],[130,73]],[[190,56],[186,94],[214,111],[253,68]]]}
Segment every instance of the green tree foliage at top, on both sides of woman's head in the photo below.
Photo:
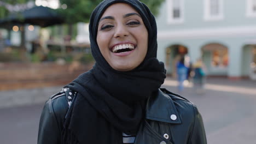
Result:
{"label": "green tree foliage at top, on both sides of woman's head", "polygon": [[[154,15],[158,14],[158,9],[165,0],[141,0],[148,5]],[[67,23],[89,22],[90,15],[102,0],[60,0],[61,5],[66,4],[67,9],[59,9],[65,17]]]}

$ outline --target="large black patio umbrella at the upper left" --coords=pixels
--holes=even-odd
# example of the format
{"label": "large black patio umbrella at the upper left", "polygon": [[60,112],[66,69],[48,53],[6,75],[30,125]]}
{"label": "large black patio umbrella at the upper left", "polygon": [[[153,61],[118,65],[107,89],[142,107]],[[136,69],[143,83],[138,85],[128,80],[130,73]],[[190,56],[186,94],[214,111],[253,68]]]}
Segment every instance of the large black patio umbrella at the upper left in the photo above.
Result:
{"label": "large black patio umbrella at the upper left", "polygon": [[63,22],[64,19],[54,9],[39,6],[24,10],[21,13],[10,14],[5,19],[0,20],[0,26],[8,27],[15,24],[23,25],[30,23],[31,25],[48,27]]}

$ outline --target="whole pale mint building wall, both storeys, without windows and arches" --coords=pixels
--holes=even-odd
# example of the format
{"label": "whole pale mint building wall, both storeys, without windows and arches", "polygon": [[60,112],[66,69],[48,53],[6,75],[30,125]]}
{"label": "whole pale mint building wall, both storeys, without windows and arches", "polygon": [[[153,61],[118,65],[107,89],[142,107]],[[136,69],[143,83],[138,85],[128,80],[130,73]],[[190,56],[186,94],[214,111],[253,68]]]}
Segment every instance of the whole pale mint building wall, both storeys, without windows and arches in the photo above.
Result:
{"label": "whole pale mint building wall, both storeys, without windows and arches", "polygon": [[[246,1],[243,0],[224,0],[224,19],[219,21],[205,21],[203,19],[203,0],[184,0],[184,22],[176,24],[167,23],[166,2],[161,5],[160,13],[156,17],[158,32],[186,31],[191,29],[213,29],[230,27],[256,26],[256,17],[246,17]],[[235,30],[234,30],[235,31]],[[206,44],[217,43],[228,47],[229,66],[226,69],[211,68],[211,53],[205,53],[203,59],[206,63],[208,74],[228,75],[230,77],[243,76],[249,74],[248,49],[243,49],[248,40],[256,38],[255,34],[226,34],[207,37],[186,37],[181,38],[159,38],[158,39],[158,58],[165,61],[165,50],[170,45],[180,44],[188,47],[189,56],[193,62],[201,57],[201,48]]]}

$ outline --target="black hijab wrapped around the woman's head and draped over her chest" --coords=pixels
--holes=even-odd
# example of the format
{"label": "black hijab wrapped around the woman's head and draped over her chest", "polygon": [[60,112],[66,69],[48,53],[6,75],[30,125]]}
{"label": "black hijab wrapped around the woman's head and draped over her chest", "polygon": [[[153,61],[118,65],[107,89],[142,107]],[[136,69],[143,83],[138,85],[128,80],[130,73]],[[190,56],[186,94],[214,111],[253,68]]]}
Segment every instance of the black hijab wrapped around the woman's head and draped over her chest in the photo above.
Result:
{"label": "black hijab wrapped around the woman's head and draped over her chest", "polygon": [[[114,3],[131,5],[148,30],[147,55],[131,71],[110,67],[97,45],[98,22]],[[144,118],[144,101],[158,91],[166,77],[164,64],[156,59],[155,18],[138,0],[105,0],[92,12],[89,31],[96,64],[66,86],[78,94],[67,113],[62,143],[123,143],[122,133],[136,134]]]}

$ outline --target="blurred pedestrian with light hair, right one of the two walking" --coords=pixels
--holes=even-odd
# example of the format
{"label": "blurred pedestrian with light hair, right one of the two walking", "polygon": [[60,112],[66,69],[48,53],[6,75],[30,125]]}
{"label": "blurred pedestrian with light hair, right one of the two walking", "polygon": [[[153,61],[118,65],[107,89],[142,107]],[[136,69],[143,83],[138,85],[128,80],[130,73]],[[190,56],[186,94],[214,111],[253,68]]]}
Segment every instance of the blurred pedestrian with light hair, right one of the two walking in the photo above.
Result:
{"label": "blurred pedestrian with light hair, right one of the two walking", "polygon": [[203,93],[205,87],[205,77],[206,77],[206,68],[202,62],[202,59],[199,58],[193,65],[194,67],[194,76],[193,76],[193,84],[195,91],[197,93]]}

